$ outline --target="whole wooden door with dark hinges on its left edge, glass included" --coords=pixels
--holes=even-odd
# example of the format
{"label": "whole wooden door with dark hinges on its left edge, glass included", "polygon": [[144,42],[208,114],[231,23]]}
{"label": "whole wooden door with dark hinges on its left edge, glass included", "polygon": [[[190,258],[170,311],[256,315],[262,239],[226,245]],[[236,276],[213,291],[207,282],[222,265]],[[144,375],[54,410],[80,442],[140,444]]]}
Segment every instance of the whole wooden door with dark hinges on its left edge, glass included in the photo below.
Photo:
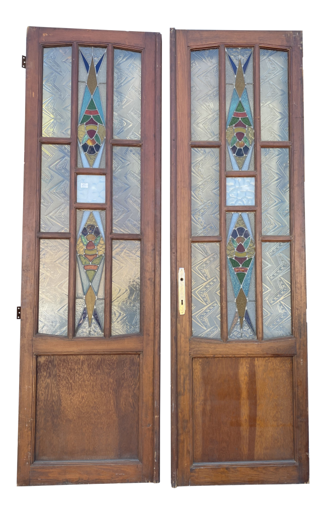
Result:
{"label": "whole wooden door with dark hinges on its left edge, glass included", "polygon": [[28,27],[17,485],[159,482],[161,35]]}

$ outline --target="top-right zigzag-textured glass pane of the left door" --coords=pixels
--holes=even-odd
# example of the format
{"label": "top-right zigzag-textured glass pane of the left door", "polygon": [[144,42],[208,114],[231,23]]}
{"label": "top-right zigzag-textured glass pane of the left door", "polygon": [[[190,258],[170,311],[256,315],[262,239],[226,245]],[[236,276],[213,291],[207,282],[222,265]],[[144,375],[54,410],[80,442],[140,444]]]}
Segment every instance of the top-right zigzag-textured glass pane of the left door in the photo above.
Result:
{"label": "top-right zigzag-textured glass pane of the left door", "polygon": [[142,54],[114,48],[113,137],[140,139]]}

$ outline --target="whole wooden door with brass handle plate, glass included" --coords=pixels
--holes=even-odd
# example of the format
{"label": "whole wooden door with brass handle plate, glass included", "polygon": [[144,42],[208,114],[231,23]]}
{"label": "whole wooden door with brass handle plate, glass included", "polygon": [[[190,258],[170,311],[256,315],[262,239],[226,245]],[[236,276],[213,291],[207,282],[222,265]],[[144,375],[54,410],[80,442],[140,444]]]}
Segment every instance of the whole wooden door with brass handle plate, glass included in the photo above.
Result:
{"label": "whole wooden door with brass handle plate, glass included", "polygon": [[302,31],[171,29],[170,70],[172,487],[307,483]]}

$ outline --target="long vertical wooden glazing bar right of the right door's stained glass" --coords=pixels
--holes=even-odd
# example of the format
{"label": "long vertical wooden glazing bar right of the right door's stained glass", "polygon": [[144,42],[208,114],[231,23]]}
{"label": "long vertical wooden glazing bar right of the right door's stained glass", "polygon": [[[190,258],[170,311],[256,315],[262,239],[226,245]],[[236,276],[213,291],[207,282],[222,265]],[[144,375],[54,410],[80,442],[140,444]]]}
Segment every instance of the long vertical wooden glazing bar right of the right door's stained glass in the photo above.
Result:
{"label": "long vertical wooden glazing bar right of the right door's stained glass", "polygon": [[256,169],[257,169],[257,180],[256,180],[256,205],[257,205],[257,216],[256,216],[256,329],[257,339],[262,340],[263,337],[263,311],[262,311],[262,268],[261,268],[261,149],[260,149],[260,55],[259,46],[255,45],[254,48],[255,57],[255,87],[254,87],[254,98],[255,98],[255,128],[256,128],[256,145],[255,145],[255,157],[256,157]]}

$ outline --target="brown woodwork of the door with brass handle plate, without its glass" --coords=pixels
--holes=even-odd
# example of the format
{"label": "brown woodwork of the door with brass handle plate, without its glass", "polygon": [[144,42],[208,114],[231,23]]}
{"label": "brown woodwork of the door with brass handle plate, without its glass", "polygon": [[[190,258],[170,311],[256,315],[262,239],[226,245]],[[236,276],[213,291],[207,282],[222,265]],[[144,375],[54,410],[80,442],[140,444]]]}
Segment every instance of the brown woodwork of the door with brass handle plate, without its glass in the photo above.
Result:
{"label": "brown woodwork of the door with brass handle plate, without its glass", "polygon": [[[254,48],[255,171],[253,172],[225,171],[226,141],[223,128],[226,116],[225,46]],[[220,140],[215,142],[191,141],[189,53],[191,50],[217,47],[220,51]],[[260,141],[260,47],[289,52],[289,141]],[[172,487],[183,487],[188,485],[308,483],[305,250],[302,243],[305,237],[302,31],[176,30],[172,28],[170,32],[170,77],[171,485]],[[221,149],[220,236],[218,237],[195,238],[190,234],[189,148],[196,146],[205,148],[220,146]],[[289,148],[290,150],[291,232],[288,236],[263,236],[261,233],[261,148],[263,147]],[[254,176],[256,178],[256,206],[249,208],[226,207],[225,176]],[[257,340],[235,341],[228,340],[227,336],[225,241],[225,214],[227,211],[256,213]],[[212,241],[220,242],[220,340],[191,337],[190,247],[193,242]],[[291,242],[293,318],[293,336],[291,337],[262,339],[261,243],[264,241]],[[185,269],[186,277],[187,305],[186,313],[183,316],[179,315],[177,303],[176,286],[179,267]],[[220,369],[219,366],[222,368]],[[241,366],[244,368],[247,366],[250,372],[240,371]],[[252,380],[254,375],[255,381]],[[251,376],[252,378],[250,378]],[[282,382],[282,385],[278,383],[277,386],[273,386],[274,380]],[[250,387],[245,386],[245,383],[250,384]],[[220,385],[218,386],[218,384]],[[219,399],[220,394],[224,395],[223,399]],[[237,394],[239,394],[238,400]],[[248,398],[251,398],[250,401]],[[260,400],[258,401],[257,398]],[[249,412],[248,417],[245,418],[241,417],[244,416],[241,410],[237,411],[239,402],[242,405],[243,401],[246,402]],[[252,407],[248,407],[249,405]],[[230,414],[233,412],[232,409],[234,409],[233,416]],[[256,411],[251,411],[251,409],[256,409]],[[264,421],[257,414],[260,409],[265,412]],[[223,418],[223,416],[225,417]],[[278,418],[278,416],[285,416],[286,422],[283,423],[281,417]],[[223,419],[224,423],[222,423]],[[275,421],[276,419],[279,421]],[[231,424],[231,421],[235,425],[228,425]],[[214,433],[212,432],[212,423],[216,424]],[[245,425],[246,423],[247,425]],[[246,451],[243,450],[243,446],[241,447],[245,438],[241,432],[244,426],[248,427],[245,437],[250,442]],[[229,430],[226,427],[229,427]],[[235,439],[231,440],[233,436],[231,437],[230,434],[236,433],[237,430],[242,435],[239,435],[239,439],[237,439],[238,436],[235,436]],[[259,431],[260,435],[257,436]],[[222,434],[224,435],[222,436]],[[223,457],[225,463],[193,464],[193,453],[200,460],[210,461],[213,457],[220,458],[216,456],[220,452],[219,449],[225,453]],[[242,452],[240,457],[237,456],[237,451]],[[259,456],[259,452],[262,452],[262,457]],[[255,464],[251,462],[253,458],[257,459]],[[230,462],[234,459],[237,462]]]}

